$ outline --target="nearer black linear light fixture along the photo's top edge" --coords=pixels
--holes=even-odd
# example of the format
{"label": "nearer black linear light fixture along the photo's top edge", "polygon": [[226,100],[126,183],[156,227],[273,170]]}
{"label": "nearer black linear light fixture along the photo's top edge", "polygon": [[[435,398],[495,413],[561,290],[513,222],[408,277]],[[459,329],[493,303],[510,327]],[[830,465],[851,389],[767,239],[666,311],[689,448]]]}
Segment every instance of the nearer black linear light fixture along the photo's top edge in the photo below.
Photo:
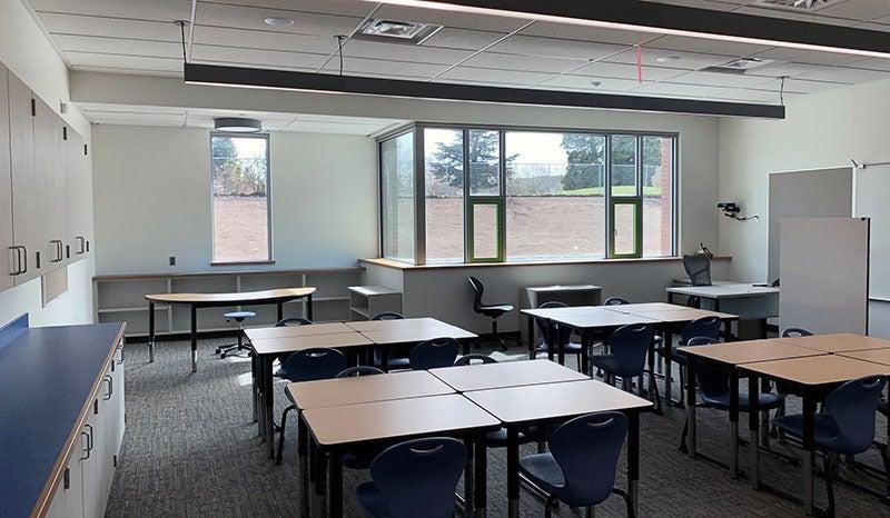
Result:
{"label": "nearer black linear light fixture along the photo's top edge", "polygon": [[637,0],[365,0],[441,11],[890,59],[887,32]]}

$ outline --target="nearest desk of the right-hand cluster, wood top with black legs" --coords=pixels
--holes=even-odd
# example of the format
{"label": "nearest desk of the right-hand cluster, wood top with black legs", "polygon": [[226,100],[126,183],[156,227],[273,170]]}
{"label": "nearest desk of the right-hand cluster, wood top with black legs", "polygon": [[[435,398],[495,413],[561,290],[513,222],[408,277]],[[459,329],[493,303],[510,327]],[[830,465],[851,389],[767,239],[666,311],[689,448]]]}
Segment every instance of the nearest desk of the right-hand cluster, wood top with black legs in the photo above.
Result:
{"label": "nearest desk of the right-hand cluster, wood top with black legs", "polygon": [[[890,366],[848,358],[840,355],[811,356],[775,361],[745,363],[739,367],[748,375],[749,391],[758,390],[760,379],[780,380],[787,390],[803,398],[803,510],[807,515],[814,511],[813,504],[813,460],[815,454],[814,416],[815,405],[823,400],[831,390],[841,383],[866,376],[890,376]],[[760,419],[758,418],[758,400],[751,400],[748,427],[751,435],[751,487],[759,489],[760,482]],[[890,426],[888,426],[890,428]],[[889,430],[890,431],[890,430]],[[797,497],[778,492],[791,500]]]}

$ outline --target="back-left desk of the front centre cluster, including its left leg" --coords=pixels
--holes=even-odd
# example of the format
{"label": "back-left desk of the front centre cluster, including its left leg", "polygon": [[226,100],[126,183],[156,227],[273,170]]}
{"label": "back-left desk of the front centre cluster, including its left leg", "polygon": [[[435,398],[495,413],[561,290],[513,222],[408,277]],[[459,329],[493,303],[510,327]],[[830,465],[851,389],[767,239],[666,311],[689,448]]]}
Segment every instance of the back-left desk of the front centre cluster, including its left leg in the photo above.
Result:
{"label": "back-left desk of the front centre cluster, including its left leg", "polygon": [[[360,376],[343,379],[324,379],[289,383],[286,388],[297,408],[297,455],[300,469],[300,502],[303,516],[309,512],[309,479],[315,481],[317,470],[307,469],[308,436],[303,424],[303,411],[310,408],[360,405],[373,401],[419,398],[454,394],[454,389],[425,370],[409,370],[386,376]],[[322,486],[322,489],[324,486]],[[317,514],[317,512],[316,512]]]}

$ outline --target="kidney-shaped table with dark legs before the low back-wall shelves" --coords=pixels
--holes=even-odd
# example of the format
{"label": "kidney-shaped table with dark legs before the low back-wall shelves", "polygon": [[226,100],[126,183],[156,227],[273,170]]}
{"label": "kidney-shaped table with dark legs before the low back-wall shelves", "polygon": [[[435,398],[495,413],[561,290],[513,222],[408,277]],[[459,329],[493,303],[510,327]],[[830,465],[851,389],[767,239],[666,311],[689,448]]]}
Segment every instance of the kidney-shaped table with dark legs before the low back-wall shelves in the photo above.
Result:
{"label": "kidney-shaped table with dark legs before the low back-wall shelves", "polygon": [[186,306],[191,309],[191,371],[198,371],[198,308],[224,308],[228,306],[261,306],[274,303],[278,307],[278,320],[284,318],[284,303],[306,299],[306,316],[313,319],[313,293],[315,288],[283,288],[264,291],[243,291],[236,293],[152,293],[148,300],[148,361],[155,361],[155,303]]}

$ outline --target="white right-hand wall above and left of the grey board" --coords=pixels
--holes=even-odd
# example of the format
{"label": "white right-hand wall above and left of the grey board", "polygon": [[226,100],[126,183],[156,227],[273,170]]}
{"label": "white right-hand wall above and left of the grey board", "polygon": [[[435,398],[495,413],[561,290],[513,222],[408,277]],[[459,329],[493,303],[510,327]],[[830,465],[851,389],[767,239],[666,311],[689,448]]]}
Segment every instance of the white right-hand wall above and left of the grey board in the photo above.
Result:
{"label": "white right-hand wall above and left of the grey board", "polygon": [[769,178],[773,171],[822,169],[890,160],[890,81],[805,96],[783,121],[720,122],[720,199],[742,205],[760,222],[720,221],[720,251],[732,277],[765,280]]}

